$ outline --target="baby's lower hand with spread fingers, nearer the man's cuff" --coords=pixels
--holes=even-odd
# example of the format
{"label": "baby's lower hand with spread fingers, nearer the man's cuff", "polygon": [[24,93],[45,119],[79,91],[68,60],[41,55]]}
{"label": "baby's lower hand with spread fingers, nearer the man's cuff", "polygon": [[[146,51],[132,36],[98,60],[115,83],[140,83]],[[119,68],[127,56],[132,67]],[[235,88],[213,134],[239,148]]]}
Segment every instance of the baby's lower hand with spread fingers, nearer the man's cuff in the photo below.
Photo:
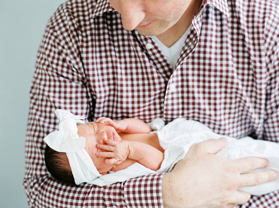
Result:
{"label": "baby's lower hand with spread fingers, nearer the man's cuff", "polygon": [[129,156],[129,142],[113,141],[108,139],[106,141],[108,145],[98,144],[97,148],[107,150],[104,152],[96,152],[97,156],[107,157],[105,162],[109,165],[116,164],[119,165],[121,162],[125,161]]}

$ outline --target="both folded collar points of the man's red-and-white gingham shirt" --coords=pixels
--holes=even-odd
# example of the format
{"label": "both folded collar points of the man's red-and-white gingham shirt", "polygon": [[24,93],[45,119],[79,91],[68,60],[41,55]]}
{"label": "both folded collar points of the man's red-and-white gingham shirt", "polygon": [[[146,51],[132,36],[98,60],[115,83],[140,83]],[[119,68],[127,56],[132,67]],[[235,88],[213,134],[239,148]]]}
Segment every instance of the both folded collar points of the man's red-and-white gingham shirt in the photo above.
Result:
{"label": "both folded collar points of the man's red-and-white gingham shirt", "polygon": [[[230,18],[229,10],[228,10],[228,1],[227,0],[204,0],[203,7],[206,4],[212,4],[218,10],[220,10],[224,15]],[[91,18],[99,16],[106,11],[115,11],[112,6],[110,6],[108,0],[96,0],[94,9],[92,11]]]}

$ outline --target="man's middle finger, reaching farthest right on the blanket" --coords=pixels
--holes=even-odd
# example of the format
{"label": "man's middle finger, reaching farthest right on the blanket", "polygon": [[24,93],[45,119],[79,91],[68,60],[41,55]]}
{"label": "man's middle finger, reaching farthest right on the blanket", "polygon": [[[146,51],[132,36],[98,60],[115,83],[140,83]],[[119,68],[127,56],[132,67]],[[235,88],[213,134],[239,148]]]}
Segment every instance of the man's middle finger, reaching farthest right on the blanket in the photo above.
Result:
{"label": "man's middle finger, reaching farthest right on the blanket", "polygon": [[257,186],[261,183],[274,181],[276,178],[277,178],[277,173],[274,170],[255,171],[251,173],[241,174],[241,181],[242,181],[241,187]]}

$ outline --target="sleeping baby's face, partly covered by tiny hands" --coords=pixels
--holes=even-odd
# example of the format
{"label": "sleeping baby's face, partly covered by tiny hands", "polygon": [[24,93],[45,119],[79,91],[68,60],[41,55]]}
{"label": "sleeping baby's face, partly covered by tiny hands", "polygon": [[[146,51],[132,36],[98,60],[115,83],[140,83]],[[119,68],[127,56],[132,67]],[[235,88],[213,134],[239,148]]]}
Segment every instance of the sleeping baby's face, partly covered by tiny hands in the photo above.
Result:
{"label": "sleeping baby's face, partly covered by tiny hands", "polygon": [[80,124],[78,126],[78,135],[86,138],[86,145],[84,149],[90,155],[94,165],[100,174],[107,174],[114,165],[108,165],[105,163],[105,157],[96,156],[97,151],[105,151],[98,149],[97,144],[106,144],[106,140],[112,139],[120,141],[121,137],[118,135],[113,126],[108,123],[100,124],[95,122],[89,122],[86,124]]}

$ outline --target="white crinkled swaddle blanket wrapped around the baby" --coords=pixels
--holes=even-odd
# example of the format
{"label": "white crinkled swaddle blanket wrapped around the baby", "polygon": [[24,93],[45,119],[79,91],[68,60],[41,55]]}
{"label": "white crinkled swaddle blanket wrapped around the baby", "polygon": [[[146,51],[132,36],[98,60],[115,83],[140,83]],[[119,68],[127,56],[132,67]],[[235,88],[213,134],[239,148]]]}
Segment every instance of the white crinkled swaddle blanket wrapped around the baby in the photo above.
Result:
{"label": "white crinkled swaddle blanket wrapped around the baby", "polygon": [[[126,181],[142,175],[170,172],[174,165],[184,158],[189,148],[198,142],[210,138],[222,137],[212,132],[200,122],[178,118],[157,131],[161,147],[165,150],[164,160],[159,170],[150,170],[139,163],[135,163],[124,170],[109,171],[109,174],[100,176],[93,184],[104,186],[116,182]],[[263,140],[254,140],[250,137],[235,139],[227,137],[228,145],[216,155],[228,159],[246,156],[263,157],[269,160],[269,166],[260,170],[275,170],[279,173],[279,144]],[[279,177],[276,181],[263,183],[258,186],[244,187],[241,191],[252,195],[262,195],[279,189]]]}

